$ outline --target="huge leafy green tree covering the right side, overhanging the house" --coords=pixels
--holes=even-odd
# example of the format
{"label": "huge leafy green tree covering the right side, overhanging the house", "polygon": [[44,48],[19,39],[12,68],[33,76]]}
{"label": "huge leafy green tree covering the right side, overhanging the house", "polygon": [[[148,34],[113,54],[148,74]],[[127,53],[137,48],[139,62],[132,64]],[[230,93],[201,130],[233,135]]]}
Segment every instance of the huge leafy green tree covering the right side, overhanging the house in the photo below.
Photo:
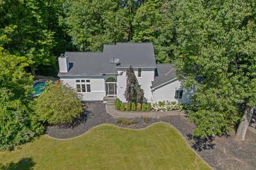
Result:
{"label": "huge leafy green tree covering the right side, overhanging the house", "polygon": [[[173,1],[177,72],[196,86],[188,115],[205,138],[229,132],[256,103],[256,2]],[[200,80],[200,81],[197,81]]]}

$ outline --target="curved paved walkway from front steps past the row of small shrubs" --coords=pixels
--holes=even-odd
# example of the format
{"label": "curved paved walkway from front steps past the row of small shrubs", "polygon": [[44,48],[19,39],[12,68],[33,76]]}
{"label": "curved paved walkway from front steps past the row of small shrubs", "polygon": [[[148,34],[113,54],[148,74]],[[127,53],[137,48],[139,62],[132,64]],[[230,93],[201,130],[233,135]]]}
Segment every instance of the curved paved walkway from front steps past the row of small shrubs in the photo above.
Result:
{"label": "curved paved walkway from front steps past the row of small shrubs", "polygon": [[108,114],[110,114],[113,117],[126,117],[126,118],[132,118],[132,117],[159,117],[159,116],[169,116],[169,115],[186,115],[183,112],[180,111],[167,111],[167,112],[143,112],[143,111],[117,111],[114,108],[114,105],[106,105],[106,111]]}

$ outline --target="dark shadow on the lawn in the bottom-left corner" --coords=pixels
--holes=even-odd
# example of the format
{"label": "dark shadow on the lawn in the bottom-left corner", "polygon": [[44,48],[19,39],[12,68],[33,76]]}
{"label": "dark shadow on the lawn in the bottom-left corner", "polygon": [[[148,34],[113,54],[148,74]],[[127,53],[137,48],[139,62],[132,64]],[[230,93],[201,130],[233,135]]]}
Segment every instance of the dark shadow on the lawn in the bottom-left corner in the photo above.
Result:
{"label": "dark shadow on the lawn in the bottom-left corner", "polygon": [[0,169],[2,170],[31,170],[34,169],[35,162],[32,158],[21,158],[19,162],[14,163],[8,163],[6,165],[0,164]]}

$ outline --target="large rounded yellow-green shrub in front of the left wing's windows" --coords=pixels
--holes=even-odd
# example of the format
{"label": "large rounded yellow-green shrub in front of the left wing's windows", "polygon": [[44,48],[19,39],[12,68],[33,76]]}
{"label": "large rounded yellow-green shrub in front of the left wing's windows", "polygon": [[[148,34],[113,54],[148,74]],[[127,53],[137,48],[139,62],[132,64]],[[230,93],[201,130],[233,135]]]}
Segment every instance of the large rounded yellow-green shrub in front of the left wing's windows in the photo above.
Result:
{"label": "large rounded yellow-green shrub in front of the left wing's windows", "polygon": [[54,125],[73,123],[83,112],[76,91],[63,84],[50,84],[38,97],[35,108],[39,120]]}

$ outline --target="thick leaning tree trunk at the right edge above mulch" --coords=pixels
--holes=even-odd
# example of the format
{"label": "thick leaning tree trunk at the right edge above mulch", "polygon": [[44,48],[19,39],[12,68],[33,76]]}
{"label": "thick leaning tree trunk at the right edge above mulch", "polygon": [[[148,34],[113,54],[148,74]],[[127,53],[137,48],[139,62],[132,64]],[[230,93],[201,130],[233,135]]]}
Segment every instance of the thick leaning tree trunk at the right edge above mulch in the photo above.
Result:
{"label": "thick leaning tree trunk at the right edge above mulch", "polygon": [[255,111],[255,105],[253,105],[252,107],[248,107],[245,110],[244,116],[242,118],[242,122],[239,124],[237,131],[236,131],[236,135],[235,135],[236,140],[238,140],[238,141],[245,140],[246,132],[247,132],[248,126],[250,124],[250,121],[252,119],[252,115],[253,115],[254,111]]}

